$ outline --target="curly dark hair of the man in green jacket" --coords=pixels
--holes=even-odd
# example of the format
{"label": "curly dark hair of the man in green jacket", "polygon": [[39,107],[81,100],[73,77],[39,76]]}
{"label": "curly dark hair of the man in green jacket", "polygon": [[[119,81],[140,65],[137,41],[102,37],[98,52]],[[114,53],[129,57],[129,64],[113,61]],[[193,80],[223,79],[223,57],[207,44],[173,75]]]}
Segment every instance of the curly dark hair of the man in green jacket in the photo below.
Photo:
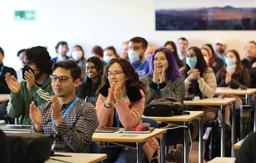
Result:
{"label": "curly dark hair of the man in green jacket", "polygon": [[45,47],[36,46],[26,49],[25,58],[26,64],[35,64],[41,73],[52,74],[53,61]]}

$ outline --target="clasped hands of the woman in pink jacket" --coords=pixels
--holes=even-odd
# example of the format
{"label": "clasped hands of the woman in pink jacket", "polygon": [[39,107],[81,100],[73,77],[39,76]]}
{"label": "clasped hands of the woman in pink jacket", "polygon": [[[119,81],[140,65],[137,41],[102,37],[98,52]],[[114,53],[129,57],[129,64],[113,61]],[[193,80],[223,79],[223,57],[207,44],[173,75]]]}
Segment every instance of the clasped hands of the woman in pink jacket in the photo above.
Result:
{"label": "clasped hands of the woman in pink jacket", "polygon": [[124,99],[124,93],[122,92],[121,87],[121,82],[110,85],[110,88],[108,89],[108,97],[106,99],[107,104],[110,105],[113,100],[116,100],[116,102],[120,102],[121,99]]}

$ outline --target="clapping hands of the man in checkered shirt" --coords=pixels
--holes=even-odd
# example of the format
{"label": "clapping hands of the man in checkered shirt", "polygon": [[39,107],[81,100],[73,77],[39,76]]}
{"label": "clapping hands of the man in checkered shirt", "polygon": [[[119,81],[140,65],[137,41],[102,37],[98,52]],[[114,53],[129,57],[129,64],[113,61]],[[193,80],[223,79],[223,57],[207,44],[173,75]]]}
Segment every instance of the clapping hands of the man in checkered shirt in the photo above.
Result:
{"label": "clapping hands of the man in checkered shirt", "polygon": [[[53,103],[50,105],[50,116],[55,122],[56,126],[58,126],[63,121],[63,118],[61,117],[61,104],[59,103],[57,96],[52,96],[52,101]],[[41,131],[42,114],[40,113],[37,106],[34,105],[34,102],[31,102],[29,105],[29,117],[31,118],[31,121],[34,121],[34,128],[36,129],[36,132]]]}

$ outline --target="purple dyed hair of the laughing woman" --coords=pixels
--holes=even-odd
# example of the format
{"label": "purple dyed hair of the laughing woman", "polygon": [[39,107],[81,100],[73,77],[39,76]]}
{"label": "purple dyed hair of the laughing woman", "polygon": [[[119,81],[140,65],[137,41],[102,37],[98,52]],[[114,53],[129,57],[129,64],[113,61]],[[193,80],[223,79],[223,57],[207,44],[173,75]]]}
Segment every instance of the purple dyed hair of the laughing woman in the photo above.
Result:
{"label": "purple dyed hair of the laughing woman", "polygon": [[157,48],[152,53],[152,56],[151,56],[150,61],[149,61],[148,75],[153,77],[153,74],[154,74],[154,56],[156,56],[156,53],[160,52],[160,51],[162,51],[162,53],[165,53],[165,56],[166,56],[168,64],[169,64],[169,67],[165,71],[166,80],[173,80],[174,81],[178,77],[183,78],[182,75],[181,75],[181,72],[178,71],[178,64],[176,62],[176,59],[175,59],[173,53],[168,48],[165,48],[165,47]]}

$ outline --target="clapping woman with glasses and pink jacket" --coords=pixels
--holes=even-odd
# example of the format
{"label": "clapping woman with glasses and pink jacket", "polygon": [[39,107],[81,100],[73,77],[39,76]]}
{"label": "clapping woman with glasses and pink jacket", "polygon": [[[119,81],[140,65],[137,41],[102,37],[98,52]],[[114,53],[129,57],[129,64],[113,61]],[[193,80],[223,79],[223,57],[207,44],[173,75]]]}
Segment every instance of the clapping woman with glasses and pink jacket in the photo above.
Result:
{"label": "clapping woman with glasses and pink jacket", "polygon": [[[141,47],[140,49],[142,50]],[[142,123],[146,95],[143,83],[132,64],[124,58],[111,59],[102,80],[96,103],[99,127],[136,129]],[[154,138],[144,143],[143,162],[151,160],[158,146]],[[108,153],[106,162],[136,162],[136,150],[131,148],[106,147],[103,152]]]}

